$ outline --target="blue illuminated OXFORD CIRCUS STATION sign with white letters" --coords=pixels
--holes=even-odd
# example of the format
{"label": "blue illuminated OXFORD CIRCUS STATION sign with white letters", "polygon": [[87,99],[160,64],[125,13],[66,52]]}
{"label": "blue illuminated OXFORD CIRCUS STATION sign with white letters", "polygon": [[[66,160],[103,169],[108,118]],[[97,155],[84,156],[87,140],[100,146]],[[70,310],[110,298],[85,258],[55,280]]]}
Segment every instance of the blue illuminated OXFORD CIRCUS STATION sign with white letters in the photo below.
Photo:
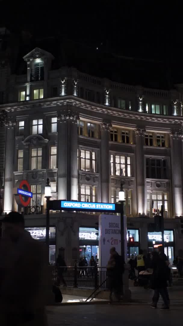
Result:
{"label": "blue illuminated OXFORD CIRCUS STATION sign with white letters", "polygon": [[92,203],[85,201],[66,201],[61,200],[61,208],[64,210],[72,209],[76,210],[88,210],[88,211],[98,211],[98,212],[112,212],[115,211],[115,204],[111,203]]}

